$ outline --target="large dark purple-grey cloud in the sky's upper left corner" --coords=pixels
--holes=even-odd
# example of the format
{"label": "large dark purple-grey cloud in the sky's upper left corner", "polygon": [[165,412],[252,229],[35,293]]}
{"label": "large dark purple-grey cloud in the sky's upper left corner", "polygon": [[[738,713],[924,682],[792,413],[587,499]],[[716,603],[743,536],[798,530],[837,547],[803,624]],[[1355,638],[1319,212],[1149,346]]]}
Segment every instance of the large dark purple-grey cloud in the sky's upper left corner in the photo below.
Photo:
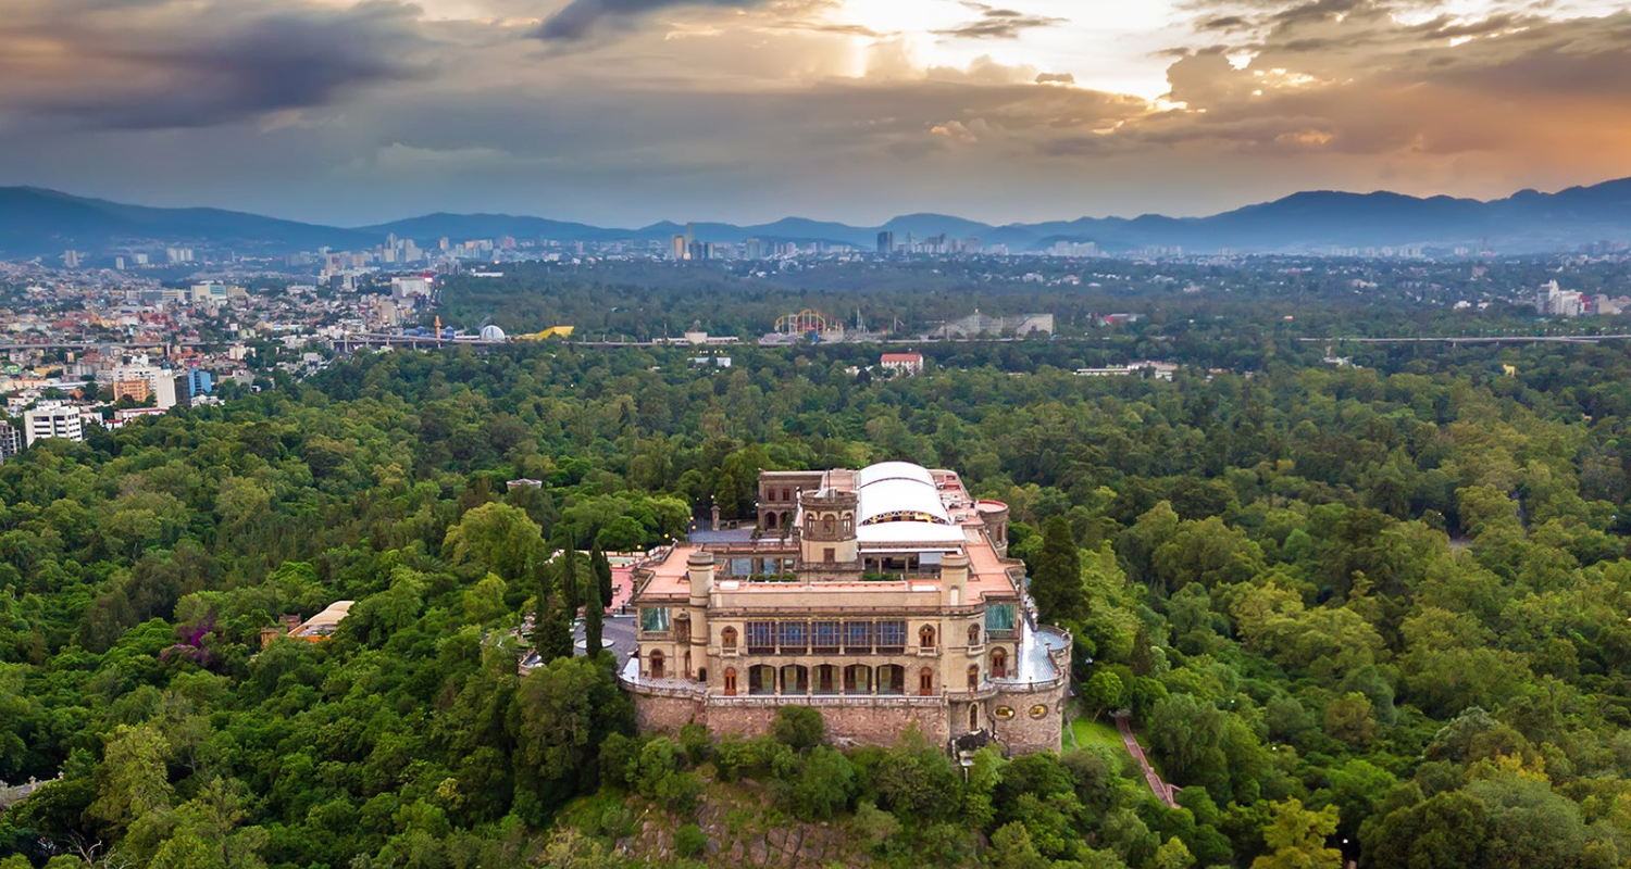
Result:
{"label": "large dark purple-grey cloud in the sky's upper left corner", "polygon": [[21,0],[0,20],[0,117],[189,129],[326,106],[413,78],[418,10]]}

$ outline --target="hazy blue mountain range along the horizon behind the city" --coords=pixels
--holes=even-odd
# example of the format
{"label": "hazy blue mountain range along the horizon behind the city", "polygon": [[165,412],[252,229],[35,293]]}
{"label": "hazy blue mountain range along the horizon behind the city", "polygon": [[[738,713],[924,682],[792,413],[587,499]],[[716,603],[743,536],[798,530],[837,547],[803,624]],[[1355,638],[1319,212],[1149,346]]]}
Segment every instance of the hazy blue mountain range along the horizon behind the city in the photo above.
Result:
{"label": "hazy blue mountain range along the horizon behind the city", "polygon": [[[789,217],[737,227],[695,223],[700,241],[829,241],[873,249],[881,232],[918,240],[936,235],[979,238],[1013,253],[1047,249],[1057,241],[1094,241],[1106,253],[1150,246],[1186,253],[1300,253],[1331,248],[1429,248],[1486,243],[1501,253],[1543,253],[1631,238],[1631,178],[1559,192],[1520,191],[1505,199],[1395,192],[1298,192],[1210,217],[1083,217],[995,227],[961,217],[912,214],[881,227],[851,227]],[[556,241],[659,241],[687,232],[682,223],[605,228],[504,214],[429,214],[373,227],[323,227],[222,209],[155,209],[86,199],[39,187],[0,187],[0,256],[54,256],[67,249],[109,251],[140,246],[232,248],[240,253],[292,253],[316,248],[367,249],[388,235],[440,238],[551,238]]]}

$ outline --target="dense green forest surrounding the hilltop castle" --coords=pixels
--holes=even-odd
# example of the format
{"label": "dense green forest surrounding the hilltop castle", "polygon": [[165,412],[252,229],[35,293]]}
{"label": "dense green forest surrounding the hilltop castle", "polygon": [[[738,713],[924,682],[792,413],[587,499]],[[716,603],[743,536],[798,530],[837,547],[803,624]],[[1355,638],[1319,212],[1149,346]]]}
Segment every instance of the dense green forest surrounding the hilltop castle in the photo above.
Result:
{"label": "dense green forest surrounding the hilltop castle", "polygon": [[[0,867],[1631,866],[1631,347],[1333,367],[1222,333],[928,346],[920,377],[387,352],[36,445],[0,465],[0,779],[46,784]],[[1171,382],[1070,373],[1151,347]],[[563,642],[600,551],[892,458],[1011,505],[1076,637],[1059,755],[835,747],[809,709],[636,735]],[[263,647],[336,600],[333,639]],[[1116,709],[1176,807],[1075,739]]]}

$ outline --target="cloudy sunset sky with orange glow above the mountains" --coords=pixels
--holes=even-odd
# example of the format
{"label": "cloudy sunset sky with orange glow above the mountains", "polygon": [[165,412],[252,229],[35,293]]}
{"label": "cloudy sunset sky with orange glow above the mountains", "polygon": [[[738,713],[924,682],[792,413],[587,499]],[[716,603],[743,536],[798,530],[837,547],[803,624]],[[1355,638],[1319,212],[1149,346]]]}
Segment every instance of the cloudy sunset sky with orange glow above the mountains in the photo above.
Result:
{"label": "cloudy sunset sky with orange glow above the mountains", "polygon": [[1598,0],[5,0],[0,46],[0,184],[329,223],[1631,176],[1631,10]]}

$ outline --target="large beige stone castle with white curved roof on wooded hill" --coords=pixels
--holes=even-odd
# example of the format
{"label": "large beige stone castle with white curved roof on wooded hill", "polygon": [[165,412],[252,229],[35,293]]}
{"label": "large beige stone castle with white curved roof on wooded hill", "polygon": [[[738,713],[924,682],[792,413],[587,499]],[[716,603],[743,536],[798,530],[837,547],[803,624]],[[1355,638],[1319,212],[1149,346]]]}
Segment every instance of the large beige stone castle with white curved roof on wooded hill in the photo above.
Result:
{"label": "large beige stone castle with white curved roof on wooded hill", "polygon": [[698,536],[634,574],[643,730],[758,735],[804,704],[840,740],[1059,748],[1072,637],[1036,624],[1008,507],[956,473],[765,471],[752,536]]}

